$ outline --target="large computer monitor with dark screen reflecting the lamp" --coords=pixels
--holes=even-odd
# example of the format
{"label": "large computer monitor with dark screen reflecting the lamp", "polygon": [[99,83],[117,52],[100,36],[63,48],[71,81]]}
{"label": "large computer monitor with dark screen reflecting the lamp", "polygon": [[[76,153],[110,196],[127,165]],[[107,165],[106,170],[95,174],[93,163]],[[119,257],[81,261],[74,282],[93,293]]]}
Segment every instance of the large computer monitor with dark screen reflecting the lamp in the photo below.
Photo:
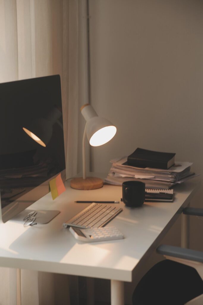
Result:
{"label": "large computer monitor with dark screen reflecting the lamp", "polygon": [[65,181],[60,76],[0,84],[0,220],[46,195],[60,173]]}

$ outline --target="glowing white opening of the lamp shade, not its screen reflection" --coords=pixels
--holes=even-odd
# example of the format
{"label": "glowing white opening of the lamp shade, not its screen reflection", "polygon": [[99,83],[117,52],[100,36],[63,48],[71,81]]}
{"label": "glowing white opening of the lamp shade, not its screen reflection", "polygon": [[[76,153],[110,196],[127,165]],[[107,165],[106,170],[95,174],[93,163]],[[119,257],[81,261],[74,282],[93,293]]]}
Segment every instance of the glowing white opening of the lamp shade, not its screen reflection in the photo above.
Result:
{"label": "glowing white opening of the lamp shade, not its screen reflection", "polygon": [[96,131],[89,140],[91,146],[100,146],[109,142],[116,134],[115,126],[106,126]]}

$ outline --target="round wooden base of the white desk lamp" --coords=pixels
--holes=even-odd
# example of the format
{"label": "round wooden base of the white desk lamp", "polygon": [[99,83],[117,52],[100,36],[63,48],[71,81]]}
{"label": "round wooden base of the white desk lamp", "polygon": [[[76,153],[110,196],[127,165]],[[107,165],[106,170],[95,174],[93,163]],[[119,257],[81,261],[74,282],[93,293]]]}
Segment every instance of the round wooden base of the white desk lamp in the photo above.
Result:
{"label": "round wooden base of the white desk lamp", "polygon": [[74,178],[71,180],[71,187],[77,190],[93,190],[103,187],[103,180],[96,177],[87,177],[86,179]]}

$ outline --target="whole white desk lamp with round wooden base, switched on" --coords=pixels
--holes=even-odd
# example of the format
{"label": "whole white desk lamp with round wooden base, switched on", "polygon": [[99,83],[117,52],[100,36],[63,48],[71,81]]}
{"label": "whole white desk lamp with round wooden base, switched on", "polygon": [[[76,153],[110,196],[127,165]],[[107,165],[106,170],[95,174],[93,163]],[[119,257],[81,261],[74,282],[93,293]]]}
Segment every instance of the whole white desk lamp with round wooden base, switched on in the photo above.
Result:
{"label": "whole white desk lamp with round wooden base, switched on", "polygon": [[116,134],[116,127],[107,119],[98,117],[96,111],[90,104],[85,104],[81,108],[81,113],[86,120],[86,125],[82,138],[82,170],[83,177],[71,180],[71,187],[81,190],[101,188],[103,180],[96,177],[86,177],[86,150],[85,140],[88,138],[91,146],[100,146],[109,142]]}

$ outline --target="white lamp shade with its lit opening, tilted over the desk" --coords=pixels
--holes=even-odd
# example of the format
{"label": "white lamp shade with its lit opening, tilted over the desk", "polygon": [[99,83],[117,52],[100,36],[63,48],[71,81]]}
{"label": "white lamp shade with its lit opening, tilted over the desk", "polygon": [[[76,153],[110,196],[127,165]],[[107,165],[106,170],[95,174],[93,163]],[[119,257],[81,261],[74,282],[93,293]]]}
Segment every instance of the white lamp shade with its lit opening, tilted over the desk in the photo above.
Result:
{"label": "white lamp shade with its lit opening, tilted over the desk", "polygon": [[100,146],[109,142],[116,134],[116,127],[107,119],[98,117],[89,104],[82,106],[81,112],[86,119],[86,135],[91,146]]}

